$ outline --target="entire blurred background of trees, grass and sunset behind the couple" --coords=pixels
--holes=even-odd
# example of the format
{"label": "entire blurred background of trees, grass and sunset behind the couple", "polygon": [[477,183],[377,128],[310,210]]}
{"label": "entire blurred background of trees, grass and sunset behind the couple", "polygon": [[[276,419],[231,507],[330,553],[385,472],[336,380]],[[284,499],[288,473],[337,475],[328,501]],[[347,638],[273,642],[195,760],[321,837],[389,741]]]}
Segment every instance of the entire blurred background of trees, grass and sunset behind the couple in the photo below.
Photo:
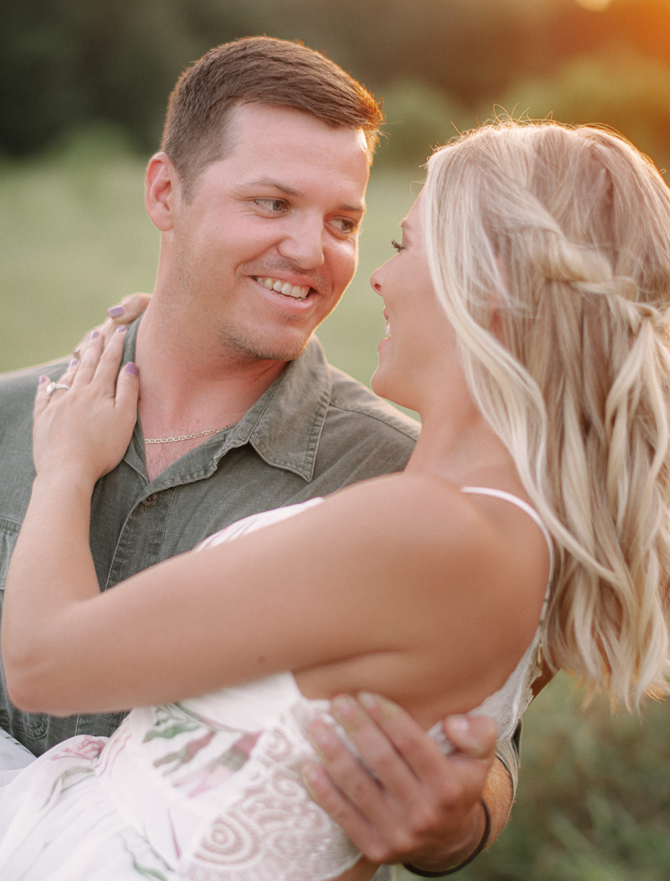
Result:
{"label": "entire blurred background of trees, grass and sunset behind the couple", "polygon": [[[384,323],[368,276],[431,146],[506,110],[605,123],[670,165],[670,0],[22,0],[1,21],[3,371],[71,351],[108,306],[151,290],[142,179],[167,94],[235,37],[299,39],[383,96],[359,272],[319,329],[361,381]],[[557,677],[526,713],[510,825],[464,881],[670,877],[667,705],[636,719],[581,698]]]}

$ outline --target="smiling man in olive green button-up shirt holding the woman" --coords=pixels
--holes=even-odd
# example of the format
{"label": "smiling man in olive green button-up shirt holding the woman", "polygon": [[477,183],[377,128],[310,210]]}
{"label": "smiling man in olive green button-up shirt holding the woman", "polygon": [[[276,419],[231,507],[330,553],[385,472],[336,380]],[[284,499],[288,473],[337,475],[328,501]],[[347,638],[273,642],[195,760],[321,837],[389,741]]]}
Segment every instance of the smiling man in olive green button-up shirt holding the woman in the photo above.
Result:
{"label": "smiling man in olive green button-up shirt holding the woman", "polygon": [[[329,368],[310,341],[354,276],[381,122],[361,85],[294,43],[237,41],[182,75],[146,173],[146,209],[162,235],[153,300],[125,348],[142,376],[138,424],[93,495],[101,589],[243,516],[406,463],[413,422]],[[0,573],[34,478],[40,372],[0,381]],[[368,857],[430,872],[499,832],[510,782],[496,762],[489,833],[486,720],[447,722],[461,752],[444,759],[397,707],[375,719],[355,701],[338,712],[376,777],[331,738],[321,747],[330,776],[313,768],[308,783]],[[4,696],[0,707],[0,725],[35,753],[107,735],[121,717],[22,714]]]}

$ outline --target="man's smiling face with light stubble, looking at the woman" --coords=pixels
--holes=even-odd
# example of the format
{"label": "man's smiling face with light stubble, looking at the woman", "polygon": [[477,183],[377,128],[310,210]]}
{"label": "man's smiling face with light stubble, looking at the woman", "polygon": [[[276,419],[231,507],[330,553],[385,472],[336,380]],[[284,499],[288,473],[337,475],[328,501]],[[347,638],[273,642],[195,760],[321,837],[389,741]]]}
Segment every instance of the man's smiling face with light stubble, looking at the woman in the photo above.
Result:
{"label": "man's smiling face with light stubble, looking at the woman", "polygon": [[365,138],[265,104],[235,107],[227,137],[190,202],[175,194],[172,278],[226,355],[294,359],[354,276]]}

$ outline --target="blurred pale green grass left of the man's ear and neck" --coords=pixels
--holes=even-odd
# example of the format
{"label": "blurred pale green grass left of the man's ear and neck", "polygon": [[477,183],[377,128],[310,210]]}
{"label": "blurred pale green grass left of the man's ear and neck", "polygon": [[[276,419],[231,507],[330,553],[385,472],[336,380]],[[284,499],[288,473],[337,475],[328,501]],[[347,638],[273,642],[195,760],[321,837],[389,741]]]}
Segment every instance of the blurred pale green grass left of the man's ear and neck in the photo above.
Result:
{"label": "blurred pale green grass left of the man's ear and neck", "polygon": [[122,293],[152,290],[144,162],[109,123],[0,167],[0,371],[71,352]]}

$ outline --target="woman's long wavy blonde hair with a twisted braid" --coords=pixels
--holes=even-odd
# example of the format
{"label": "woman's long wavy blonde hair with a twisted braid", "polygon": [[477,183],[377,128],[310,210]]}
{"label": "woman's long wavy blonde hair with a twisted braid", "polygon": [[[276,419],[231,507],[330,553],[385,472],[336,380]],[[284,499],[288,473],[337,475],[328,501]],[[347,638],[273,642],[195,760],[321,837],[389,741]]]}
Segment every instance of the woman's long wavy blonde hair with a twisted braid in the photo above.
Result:
{"label": "woman's long wavy blonde hair with a twisted braid", "polygon": [[428,261],[475,402],[557,549],[554,668],[668,691],[670,190],[606,130],[488,124],[435,152]]}

